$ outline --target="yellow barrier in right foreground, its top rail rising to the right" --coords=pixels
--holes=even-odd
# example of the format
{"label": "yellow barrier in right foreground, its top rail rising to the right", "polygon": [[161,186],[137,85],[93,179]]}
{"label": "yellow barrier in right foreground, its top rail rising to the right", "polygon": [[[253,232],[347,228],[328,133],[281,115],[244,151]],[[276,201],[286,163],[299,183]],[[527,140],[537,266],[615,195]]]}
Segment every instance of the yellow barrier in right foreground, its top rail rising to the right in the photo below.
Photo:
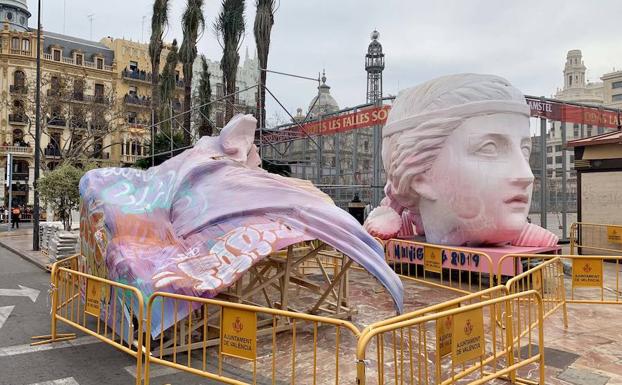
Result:
{"label": "yellow barrier in right foreground, its top rail rising to the right", "polygon": [[[488,291],[503,294],[506,288]],[[458,300],[449,301],[366,328],[357,346],[357,384],[483,384],[495,378],[544,384],[539,293],[459,305]],[[505,309],[505,325],[512,327],[498,327],[499,307]],[[532,321],[526,329],[515,322],[520,316]],[[536,367],[537,381],[522,378]]]}

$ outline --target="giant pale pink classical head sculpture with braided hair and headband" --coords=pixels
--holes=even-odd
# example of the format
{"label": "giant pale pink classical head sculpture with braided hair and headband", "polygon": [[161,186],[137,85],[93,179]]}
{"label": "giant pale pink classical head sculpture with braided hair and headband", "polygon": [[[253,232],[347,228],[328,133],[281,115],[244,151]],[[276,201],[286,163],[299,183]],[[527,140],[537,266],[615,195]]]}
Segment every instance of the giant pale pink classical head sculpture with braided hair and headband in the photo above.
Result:
{"label": "giant pale pink classical head sculpture with braided hair and headband", "polygon": [[527,223],[529,107],[505,79],[451,75],[401,91],[382,136],[386,197],[365,222],[372,235],[416,232],[455,246],[557,243]]}

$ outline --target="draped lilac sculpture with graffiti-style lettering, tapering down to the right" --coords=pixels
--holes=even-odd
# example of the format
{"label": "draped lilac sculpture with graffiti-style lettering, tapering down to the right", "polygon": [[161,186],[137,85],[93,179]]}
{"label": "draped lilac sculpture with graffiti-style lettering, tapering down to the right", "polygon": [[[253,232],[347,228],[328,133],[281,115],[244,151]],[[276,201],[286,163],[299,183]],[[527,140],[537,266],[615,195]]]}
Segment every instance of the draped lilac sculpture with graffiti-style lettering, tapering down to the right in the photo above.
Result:
{"label": "draped lilac sculpture with graffiti-style lettering, tapering down to the right", "polygon": [[[145,299],[155,291],[213,297],[270,253],[319,239],[379,279],[401,311],[402,284],[382,247],[310,182],[259,168],[255,127],[238,115],[220,136],[147,171],[89,171],[80,181],[89,272]],[[154,320],[166,328],[173,312],[165,313]]]}

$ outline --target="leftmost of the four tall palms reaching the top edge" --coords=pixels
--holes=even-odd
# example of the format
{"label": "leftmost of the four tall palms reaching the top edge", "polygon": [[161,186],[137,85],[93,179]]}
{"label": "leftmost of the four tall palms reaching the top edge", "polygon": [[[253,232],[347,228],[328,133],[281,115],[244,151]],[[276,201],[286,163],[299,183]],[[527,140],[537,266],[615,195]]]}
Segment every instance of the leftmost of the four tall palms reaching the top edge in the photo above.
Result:
{"label": "leftmost of the four tall palms reaching the top edge", "polygon": [[[168,23],[168,0],[155,0],[153,2],[153,15],[151,16],[151,39],[149,40],[149,57],[151,58],[151,103],[153,108],[153,121],[156,124],[158,119],[158,108],[160,104],[159,80],[160,80],[160,55],[164,43],[164,28]],[[154,126],[154,133],[157,126]]]}

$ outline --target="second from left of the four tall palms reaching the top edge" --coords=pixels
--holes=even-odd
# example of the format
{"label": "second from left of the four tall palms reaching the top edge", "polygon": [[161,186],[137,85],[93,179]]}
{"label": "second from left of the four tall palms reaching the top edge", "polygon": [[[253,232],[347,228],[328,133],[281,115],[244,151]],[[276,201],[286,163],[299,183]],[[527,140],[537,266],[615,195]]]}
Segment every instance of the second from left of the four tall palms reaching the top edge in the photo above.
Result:
{"label": "second from left of the four tall palms reaching the top edge", "polygon": [[[184,40],[179,49],[179,59],[184,71],[184,143],[190,145],[190,108],[192,105],[192,64],[197,57],[199,33],[205,29],[203,18],[203,0],[188,0],[188,5],[181,17]],[[199,32],[200,31],[200,32]]]}

